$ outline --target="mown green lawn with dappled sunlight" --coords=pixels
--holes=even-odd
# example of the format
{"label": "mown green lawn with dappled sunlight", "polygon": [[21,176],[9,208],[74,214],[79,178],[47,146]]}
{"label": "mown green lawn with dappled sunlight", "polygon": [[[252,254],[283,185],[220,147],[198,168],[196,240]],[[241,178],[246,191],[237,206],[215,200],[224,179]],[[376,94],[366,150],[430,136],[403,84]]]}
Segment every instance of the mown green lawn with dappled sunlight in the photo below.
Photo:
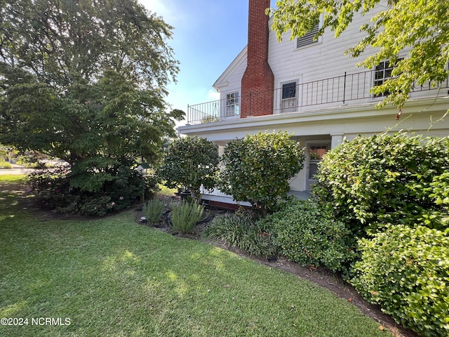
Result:
{"label": "mown green lawn with dappled sunlight", "polygon": [[131,211],[39,220],[14,185],[0,182],[0,318],[29,320],[0,336],[391,336],[326,289]]}

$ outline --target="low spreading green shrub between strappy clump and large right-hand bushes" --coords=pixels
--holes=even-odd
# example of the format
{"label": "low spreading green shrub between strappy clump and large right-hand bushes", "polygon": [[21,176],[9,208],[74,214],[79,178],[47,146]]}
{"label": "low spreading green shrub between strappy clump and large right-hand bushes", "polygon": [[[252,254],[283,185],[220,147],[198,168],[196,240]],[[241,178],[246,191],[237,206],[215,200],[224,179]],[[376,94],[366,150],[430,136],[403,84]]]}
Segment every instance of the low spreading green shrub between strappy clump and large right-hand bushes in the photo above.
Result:
{"label": "low spreading green shrub between strappy clump and large right-hand bushes", "polygon": [[259,220],[264,232],[272,232],[279,251],[301,265],[324,265],[347,271],[355,258],[354,239],[344,223],[309,200],[291,200],[283,209]]}

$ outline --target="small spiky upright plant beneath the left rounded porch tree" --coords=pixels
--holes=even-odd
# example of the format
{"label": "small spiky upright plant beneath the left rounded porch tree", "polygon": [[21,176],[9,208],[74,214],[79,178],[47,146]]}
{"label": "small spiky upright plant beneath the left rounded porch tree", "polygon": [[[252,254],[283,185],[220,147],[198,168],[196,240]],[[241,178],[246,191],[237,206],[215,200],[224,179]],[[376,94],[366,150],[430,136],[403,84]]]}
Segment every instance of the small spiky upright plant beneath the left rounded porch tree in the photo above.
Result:
{"label": "small spiky upright plant beneath the left rounded porch tree", "polygon": [[171,204],[171,209],[171,227],[177,232],[192,232],[196,223],[203,219],[204,206],[194,202],[180,201]]}

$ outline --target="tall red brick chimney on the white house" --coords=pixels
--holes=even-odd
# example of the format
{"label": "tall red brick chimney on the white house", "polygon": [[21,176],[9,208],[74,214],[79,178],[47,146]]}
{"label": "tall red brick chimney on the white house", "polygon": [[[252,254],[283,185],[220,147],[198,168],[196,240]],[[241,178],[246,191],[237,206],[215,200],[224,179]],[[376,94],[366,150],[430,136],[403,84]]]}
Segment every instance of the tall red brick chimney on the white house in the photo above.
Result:
{"label": "tall red brick chimney on the white house", "polygon": [[268,64],[270,0],[249,0],[248,65],[241,79],[241,118],[273,114],[274,74]]}

